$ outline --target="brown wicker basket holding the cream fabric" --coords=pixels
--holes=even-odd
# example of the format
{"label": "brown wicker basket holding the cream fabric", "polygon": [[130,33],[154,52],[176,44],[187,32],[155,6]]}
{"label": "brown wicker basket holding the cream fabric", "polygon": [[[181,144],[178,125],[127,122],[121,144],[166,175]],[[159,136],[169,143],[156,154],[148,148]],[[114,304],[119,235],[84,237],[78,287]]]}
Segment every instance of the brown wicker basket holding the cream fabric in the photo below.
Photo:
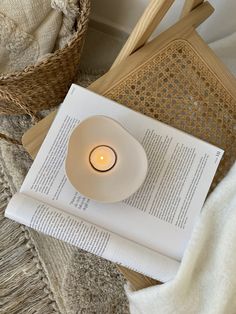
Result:
{"label": "brown wicker basket holding the cream fabric", "polygon": [[90,1],[79,0],[77,30],[63,49],[21,72],[0,76],[0,114],[35,116],[41,109],[58,105],[71,85],[83,47]]}

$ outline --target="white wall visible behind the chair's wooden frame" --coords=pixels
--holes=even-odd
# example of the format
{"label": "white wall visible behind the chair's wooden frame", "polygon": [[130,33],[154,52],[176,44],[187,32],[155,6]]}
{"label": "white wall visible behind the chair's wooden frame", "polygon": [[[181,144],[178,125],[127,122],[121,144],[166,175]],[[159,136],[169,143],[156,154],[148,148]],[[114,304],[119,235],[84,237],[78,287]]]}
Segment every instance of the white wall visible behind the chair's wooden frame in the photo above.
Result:
{"label": "white wall visible behind the chair's wooden frame", "polygon": [[[91,0],[92,18],[130,33],[149,0]],[[158,1],[158,0],[157,0]],[[236,31],[236,0],[210,0],[215,12],[199,27],[199,33],[214,41]],[[175,0],[171,10],[158,27],[163,31],[178,19],[184,0]]]}

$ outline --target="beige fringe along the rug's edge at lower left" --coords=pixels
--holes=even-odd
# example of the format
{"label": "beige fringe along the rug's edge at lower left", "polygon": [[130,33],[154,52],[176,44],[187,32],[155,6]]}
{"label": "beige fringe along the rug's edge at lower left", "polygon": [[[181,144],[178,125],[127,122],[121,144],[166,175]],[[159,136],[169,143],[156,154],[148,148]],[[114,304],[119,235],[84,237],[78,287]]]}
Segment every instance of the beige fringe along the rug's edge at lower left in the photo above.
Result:
{"label": "beige fringe along the rug's edge at lower left", "polygon": [[4,217],[11,196],[0,166],[0,313],[60,313],[27,228]]}

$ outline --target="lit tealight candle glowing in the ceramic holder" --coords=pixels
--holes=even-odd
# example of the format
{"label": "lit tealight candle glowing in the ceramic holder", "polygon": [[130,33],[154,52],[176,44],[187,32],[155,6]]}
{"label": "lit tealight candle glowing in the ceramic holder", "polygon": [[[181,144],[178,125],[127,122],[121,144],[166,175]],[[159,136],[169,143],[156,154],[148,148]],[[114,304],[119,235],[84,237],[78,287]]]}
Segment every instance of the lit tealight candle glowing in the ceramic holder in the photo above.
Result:
{"label": "lit tealight candle glowing in the ceramic holder", "polygon": [[114,149],[107,145],[95,147],[89,155],[91,166],[100,172],[111,170],[115,166],[116,160]]}

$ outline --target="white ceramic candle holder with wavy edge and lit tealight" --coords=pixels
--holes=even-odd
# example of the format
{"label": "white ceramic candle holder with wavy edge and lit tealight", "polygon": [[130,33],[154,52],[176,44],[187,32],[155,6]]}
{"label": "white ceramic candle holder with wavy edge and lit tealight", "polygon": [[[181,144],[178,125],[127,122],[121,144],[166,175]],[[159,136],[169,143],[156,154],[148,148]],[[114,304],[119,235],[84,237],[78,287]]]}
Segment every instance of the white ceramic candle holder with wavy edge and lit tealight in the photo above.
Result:
{"label": "white ceramic candle holder with wavy edge and lit tealight", "polygon": [[73,130],[65,168],[69,181],[82,195],[113,203],[138,190],[148,161],[142,145],[118,122],[93,116]]}

